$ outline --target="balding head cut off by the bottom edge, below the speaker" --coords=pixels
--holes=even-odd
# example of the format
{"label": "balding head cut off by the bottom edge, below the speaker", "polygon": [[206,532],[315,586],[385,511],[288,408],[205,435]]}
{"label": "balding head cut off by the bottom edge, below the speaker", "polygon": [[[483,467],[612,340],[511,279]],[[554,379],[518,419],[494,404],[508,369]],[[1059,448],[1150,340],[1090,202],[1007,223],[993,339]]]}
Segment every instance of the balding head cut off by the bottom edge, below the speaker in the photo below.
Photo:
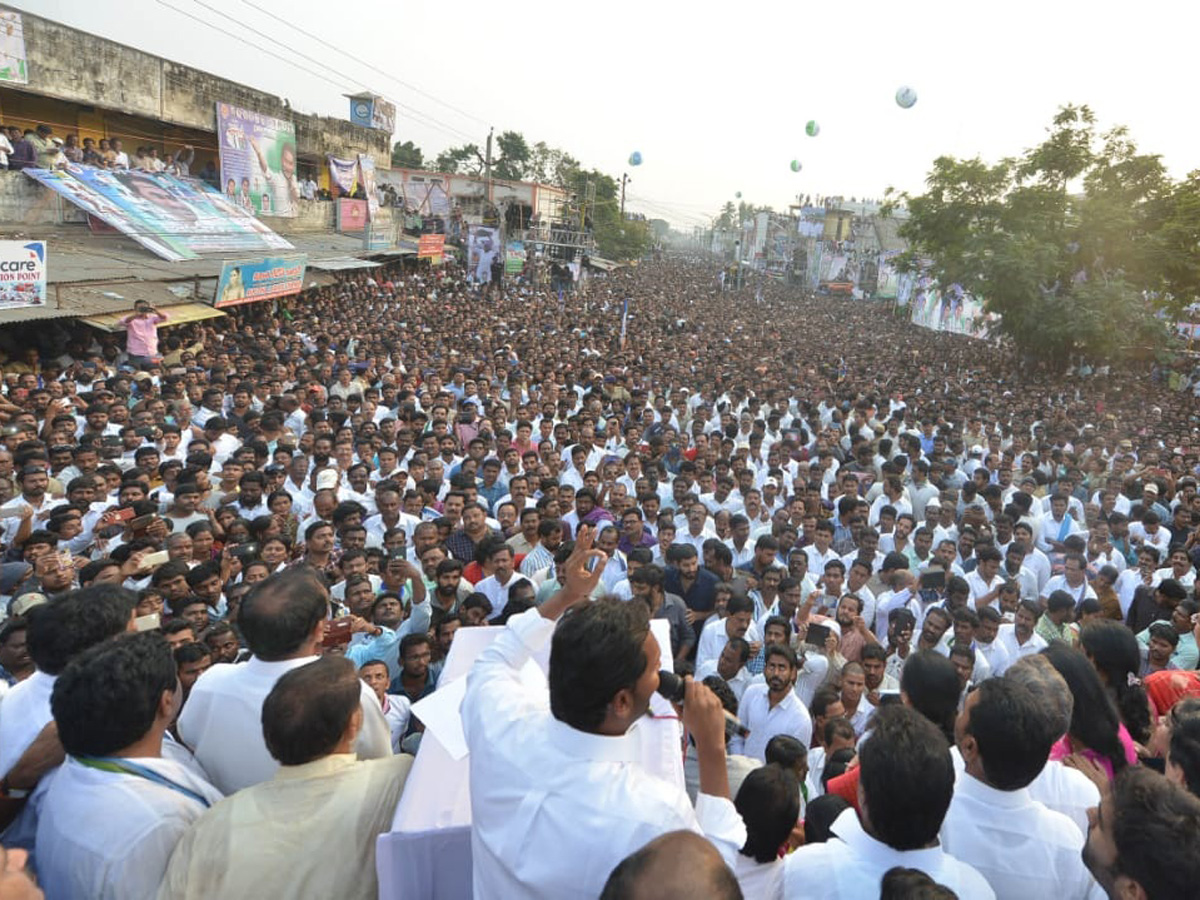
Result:
{"label": "balding head cut off by the bottom edge, below the speaker", "polygon": [[695,832],[668,832],[625,857],[600,900],[742,900],[733,871]]}

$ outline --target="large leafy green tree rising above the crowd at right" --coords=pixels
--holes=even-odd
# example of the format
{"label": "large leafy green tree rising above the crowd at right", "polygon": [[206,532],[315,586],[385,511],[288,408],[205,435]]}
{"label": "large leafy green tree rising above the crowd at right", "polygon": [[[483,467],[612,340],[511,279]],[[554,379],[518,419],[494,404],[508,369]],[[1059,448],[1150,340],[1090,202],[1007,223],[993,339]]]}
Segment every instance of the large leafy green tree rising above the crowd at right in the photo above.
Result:
{"label": "large leafy green tree rising above the crowd at right", "polygon": [[1022,353],[1066,365],[1163,341],[1154,313],[1168,301],[1162,230],[1174,188],[1123,128],[1100,134],[1086,106],[1063,107],[1020,157],[938,157],[925,184],[889,192],[884,206],[908,210],[900,265],[982,298]]}

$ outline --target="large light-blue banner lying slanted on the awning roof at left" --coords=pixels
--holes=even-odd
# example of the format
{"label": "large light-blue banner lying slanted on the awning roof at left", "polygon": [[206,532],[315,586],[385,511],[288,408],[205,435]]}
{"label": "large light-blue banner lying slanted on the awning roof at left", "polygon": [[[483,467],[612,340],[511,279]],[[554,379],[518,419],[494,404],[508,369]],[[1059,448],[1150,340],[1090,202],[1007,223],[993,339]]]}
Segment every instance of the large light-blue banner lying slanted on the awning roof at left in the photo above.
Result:
{"label": "large light-blue banner lying slanted on the awning roof at left", "polygon": [[74,164],[23,172],[163,259],[292,250],[252,214],[196,179]]}

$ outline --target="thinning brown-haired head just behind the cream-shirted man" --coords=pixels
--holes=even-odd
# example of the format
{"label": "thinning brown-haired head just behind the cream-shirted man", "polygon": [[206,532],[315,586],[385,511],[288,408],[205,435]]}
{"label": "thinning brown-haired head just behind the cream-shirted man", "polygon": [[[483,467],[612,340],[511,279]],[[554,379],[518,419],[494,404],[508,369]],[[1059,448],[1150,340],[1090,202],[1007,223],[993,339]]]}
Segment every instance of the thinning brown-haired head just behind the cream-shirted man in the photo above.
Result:
{"label": "thinning brown-haired head just behind the cream-shirted man", "polygon": [[286,569],[246,595],[238,625],[251,653],[271,662],[313,650],[314,631],[328,613],[329,590],[317,572]]}

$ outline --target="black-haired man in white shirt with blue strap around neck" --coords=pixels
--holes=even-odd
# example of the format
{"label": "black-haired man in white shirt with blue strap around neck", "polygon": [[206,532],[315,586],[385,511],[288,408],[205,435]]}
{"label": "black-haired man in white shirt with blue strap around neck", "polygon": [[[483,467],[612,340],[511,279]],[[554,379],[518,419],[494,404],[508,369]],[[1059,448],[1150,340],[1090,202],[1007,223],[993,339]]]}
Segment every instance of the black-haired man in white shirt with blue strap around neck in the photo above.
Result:
{"label": "black-haired man in white shirt with blue strap around neck", "polygon": [[59,676],[50,703],[67,758],[37,826],[37,877],[50,900],[154,896],[175,844],[221,799],[163,758],[181,701],[158,634],[101,643]]}

